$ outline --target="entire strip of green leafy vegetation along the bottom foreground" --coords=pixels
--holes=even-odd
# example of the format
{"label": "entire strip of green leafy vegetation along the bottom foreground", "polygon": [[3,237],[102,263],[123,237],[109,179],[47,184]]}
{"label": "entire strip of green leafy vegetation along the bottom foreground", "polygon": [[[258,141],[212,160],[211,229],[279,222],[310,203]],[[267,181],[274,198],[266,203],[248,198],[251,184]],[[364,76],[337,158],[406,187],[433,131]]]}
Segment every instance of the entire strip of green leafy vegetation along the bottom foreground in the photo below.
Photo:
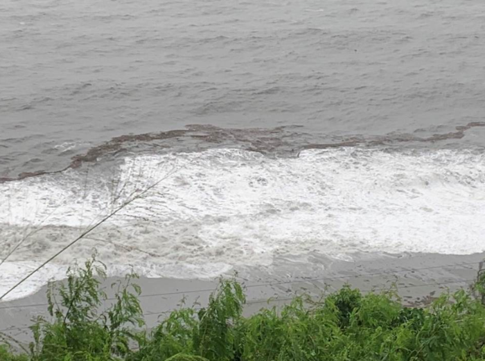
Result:
{"label": "entire strip of green leafy vegetation along the bottom foreground", "polygon": [[0,346],[0,361],[473,361],[485,360],[485,276],[473,292],[443,294],[428,308],[405,308],[393,292],[344,287],[322,301],[296,297],[281,309],[243,317],[245,295],[222,280],[206,308],[180,308],[152,331],[129,274],[116,299],[100,289],[104,267],[94,258],[48,290],[50,319],[31,327],[23,355]]}

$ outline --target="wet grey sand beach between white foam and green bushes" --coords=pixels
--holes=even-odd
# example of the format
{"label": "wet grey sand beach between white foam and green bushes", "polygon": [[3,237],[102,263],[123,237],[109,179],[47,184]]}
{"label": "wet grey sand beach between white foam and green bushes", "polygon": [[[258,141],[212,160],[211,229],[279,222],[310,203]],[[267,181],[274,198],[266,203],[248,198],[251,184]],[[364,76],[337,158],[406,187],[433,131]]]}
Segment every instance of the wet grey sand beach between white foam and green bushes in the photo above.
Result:
{"label": "wet grey sand beach between white foam and green bushes", "polygon": [[[479,262],[485,252],[470,255],[443,254],[361,254],[357,261],[340,261],[321,255],[306,264],[297,258],[275,259],[272,267],[246,270],[238,276],[245,285],[245,315],[261,308],[279,307],[299,294],[317,299],[324,292],[334,292],[345,283],[362,292],[380,292],[394,287],[401,302],[409,307],[423,307],[442,292],[468,288],[477,276]],[[296,274],[297,273],[297,274]],[[230,276],[230,275],[228,275]],[[102,287],[119,277],[107,278]],[[166,313],[197,303],[206,306],[209,294],[218,280],[186,280],[141,277],[141,307],[147,328],[155,326]],[[109,292],[107,292],[109,297]],[[101,308],[108,306],[105,302]],[[197,306],[199,307],[199,306]],[[0,302],[0,330],[19,342],[30,341],[32,319],[47,316],[46,285],[35,294],[21,299]]]}

